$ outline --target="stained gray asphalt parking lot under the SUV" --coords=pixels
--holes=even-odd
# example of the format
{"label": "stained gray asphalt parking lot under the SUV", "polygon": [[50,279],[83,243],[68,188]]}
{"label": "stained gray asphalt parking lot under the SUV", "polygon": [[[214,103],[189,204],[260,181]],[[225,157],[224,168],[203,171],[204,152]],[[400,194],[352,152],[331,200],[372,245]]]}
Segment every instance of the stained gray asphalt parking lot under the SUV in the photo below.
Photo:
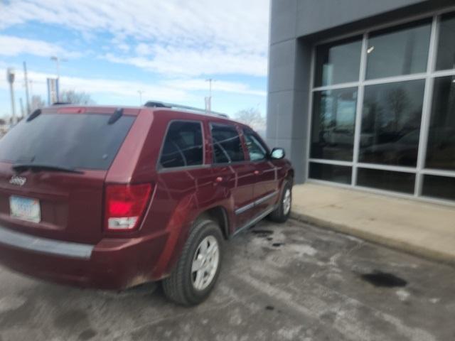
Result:
{"label": "stained gray asphalt parking lot under the SUV", "polygon": [[455,269],[295,221],[225,245],[196,308],[0,268],[0,340],[455,340]]}

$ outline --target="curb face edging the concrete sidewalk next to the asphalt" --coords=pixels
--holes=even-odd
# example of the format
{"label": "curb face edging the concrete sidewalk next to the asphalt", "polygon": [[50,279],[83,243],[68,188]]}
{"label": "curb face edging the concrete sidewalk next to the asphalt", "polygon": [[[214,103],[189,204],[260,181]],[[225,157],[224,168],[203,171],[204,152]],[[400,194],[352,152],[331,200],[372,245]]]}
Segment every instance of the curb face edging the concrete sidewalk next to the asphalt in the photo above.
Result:
{"label": "curb face edging the concrete sidewalk next to the asphalt", "polygon": [[429,249],[419,245],[407,243],[401,240],[383,237],[378,234],[370,232],[360,231],[346,224],[338,224],[336,222],[323,220],[318,217],[312,217],[311,215],[304,215],[303,213],[291,212],[291,219],[297,220],[299,222],[304,222],[307,224],[312,224],[315,225],[316,227],[331,229],[333,231],[341,232],[343,234],[349,234],[353,237],[365,239],[368,242],[380,244],[382,246],[390,247],[398,251],[405,251],[408,254],[419,256],[424,259],[429,259],[431,261],[439,261],[445,264],[449,264],[451,266],[455,266],[455,256],[453,254],[446,254],[445,252],[441,252],[435,249]]}

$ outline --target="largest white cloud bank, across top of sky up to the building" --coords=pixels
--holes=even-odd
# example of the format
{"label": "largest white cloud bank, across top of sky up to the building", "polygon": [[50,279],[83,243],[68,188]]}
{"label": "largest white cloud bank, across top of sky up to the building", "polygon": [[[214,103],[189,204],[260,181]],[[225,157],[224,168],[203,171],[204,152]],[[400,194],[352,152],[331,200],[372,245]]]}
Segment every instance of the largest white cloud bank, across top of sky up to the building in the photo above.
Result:
{"label": "largest white cloud bank, across top of sky up to the building", "polygon": [[[0,9],[0,29],[38,21],[111,33],[106,57],[164,74],[267,75],[269,0],[23,0]],[[136,40],[134,46],[125,45]],[[135,54],[129,52],[133,48]]]}

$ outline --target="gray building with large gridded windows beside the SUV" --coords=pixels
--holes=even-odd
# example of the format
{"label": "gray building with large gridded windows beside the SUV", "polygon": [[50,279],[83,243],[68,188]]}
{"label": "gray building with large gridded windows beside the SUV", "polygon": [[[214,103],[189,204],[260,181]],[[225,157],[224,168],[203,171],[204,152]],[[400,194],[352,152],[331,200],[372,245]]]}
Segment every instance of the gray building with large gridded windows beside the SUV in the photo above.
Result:
{"label": "gray building with large gridded windows beside the SUV", "polygon": [[454,203],[455,0],[272,0],[269,43],[296,183]]}

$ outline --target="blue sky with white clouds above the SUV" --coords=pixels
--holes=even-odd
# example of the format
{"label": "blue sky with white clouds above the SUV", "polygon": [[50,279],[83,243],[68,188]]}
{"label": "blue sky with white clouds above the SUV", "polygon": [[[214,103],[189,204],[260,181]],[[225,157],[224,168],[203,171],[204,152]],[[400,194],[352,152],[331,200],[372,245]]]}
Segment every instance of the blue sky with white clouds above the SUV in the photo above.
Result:
{"label": "blue sky with white clouds above the SUV", "polygon": [[227,114],[258,107],[267,91],[269,0],[0,0],[0,117],[11,113],[6,67],[16,70],[16,110],[60,63],[60,90],[90,93],[97,104],[142,98],[204,106]]}

